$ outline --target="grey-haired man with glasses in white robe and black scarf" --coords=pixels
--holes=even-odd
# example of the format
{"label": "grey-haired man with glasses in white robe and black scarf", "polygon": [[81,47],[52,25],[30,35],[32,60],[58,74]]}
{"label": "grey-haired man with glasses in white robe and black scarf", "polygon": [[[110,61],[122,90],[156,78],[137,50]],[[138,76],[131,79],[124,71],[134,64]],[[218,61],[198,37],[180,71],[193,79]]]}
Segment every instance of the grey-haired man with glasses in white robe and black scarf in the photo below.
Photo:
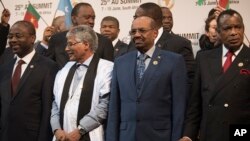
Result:
{"label": "grey-haired man with glasses in white robe and black scarf", "polygon": [[86,25],[66,35],[68,62],[54,85],[51,126],[57,141],[103,141],[113,63],[95,53],[98,37]]}

